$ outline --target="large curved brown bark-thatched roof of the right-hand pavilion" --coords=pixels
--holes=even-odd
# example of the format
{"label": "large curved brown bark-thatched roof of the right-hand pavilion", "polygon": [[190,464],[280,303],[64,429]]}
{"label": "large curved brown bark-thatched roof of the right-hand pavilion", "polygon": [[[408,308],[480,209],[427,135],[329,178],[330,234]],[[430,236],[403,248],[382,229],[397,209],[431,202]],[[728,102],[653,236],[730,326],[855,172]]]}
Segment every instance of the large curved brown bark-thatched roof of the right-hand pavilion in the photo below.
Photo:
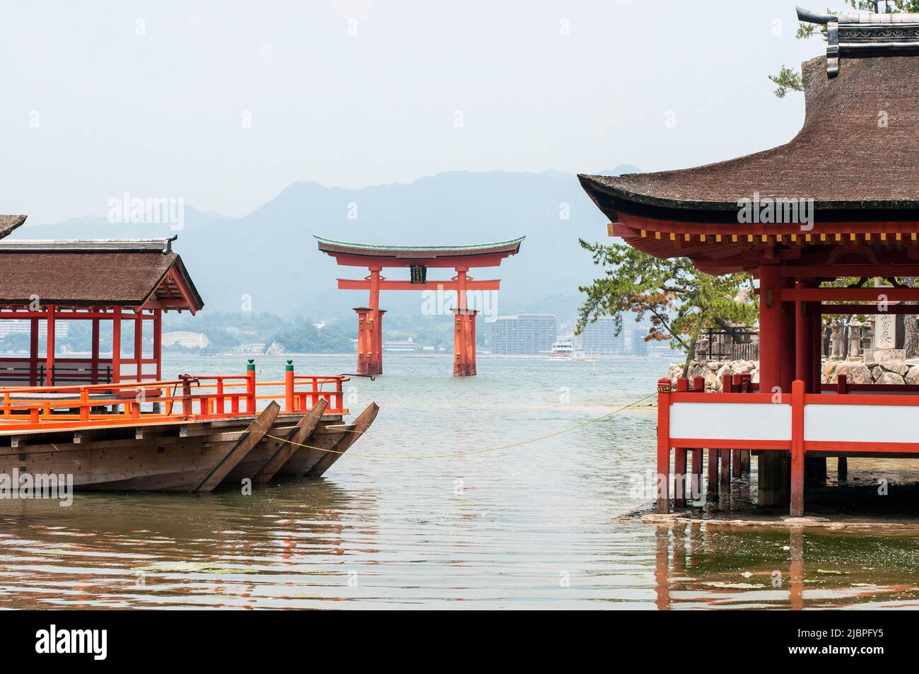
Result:
{"label": "large curved brown bark-thatched roof of the right-hand pavilion", "polygon": [[[772,150],[679,171],[579,176],[597,206],[661,220],[737,223],[738,200],[812,199],[820,222],[919,220],[919,57],[803,64],[806,117]],[[751,132],[755,132],[752,129]]]}

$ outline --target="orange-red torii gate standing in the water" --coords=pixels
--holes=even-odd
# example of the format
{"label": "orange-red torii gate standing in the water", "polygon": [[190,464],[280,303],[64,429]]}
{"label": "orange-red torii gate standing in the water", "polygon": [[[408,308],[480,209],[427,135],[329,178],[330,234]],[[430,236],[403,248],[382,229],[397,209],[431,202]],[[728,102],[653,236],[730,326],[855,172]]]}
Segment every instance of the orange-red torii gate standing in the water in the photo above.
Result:
{"label": "orange-red torii gate standing in the water", "polygon": [[[316,236],[319,249],[335,257],[339,265],[366,267],[369,276],[362,280],[339,279],[338,290],[369,291],[369,306],[355,307],[357,312],[357,374],[380,374],[383,371],[383,314],[380,291],[456,291],[457,306],[453,309],[453,375],[475,374],[475,316],[470,309],[466,291],[496,291],[500,280],[474,280],[469,270],[474,267],[499,267],[505,257],[516,255],[525,237],[510,241],[475,246],[371,246],[347,244]],[[409,280],[387,280],[380,275],[383,268],[407,267]],[[453,268],[456,276],[450,280],[428,280],[427,268]]]}

